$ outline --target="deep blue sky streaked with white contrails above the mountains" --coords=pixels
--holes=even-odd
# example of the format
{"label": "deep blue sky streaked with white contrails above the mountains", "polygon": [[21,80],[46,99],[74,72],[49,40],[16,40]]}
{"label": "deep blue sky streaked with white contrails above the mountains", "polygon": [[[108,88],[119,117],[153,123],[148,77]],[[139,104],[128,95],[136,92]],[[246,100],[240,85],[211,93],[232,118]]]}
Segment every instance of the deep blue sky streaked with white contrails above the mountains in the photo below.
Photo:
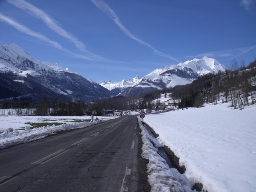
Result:
{"label": "deep blue sky streaked with white contrails above the mountains", "polygon": [[256,58],[255,0],[0,0],[0,46],[99,83],[208,56]]}

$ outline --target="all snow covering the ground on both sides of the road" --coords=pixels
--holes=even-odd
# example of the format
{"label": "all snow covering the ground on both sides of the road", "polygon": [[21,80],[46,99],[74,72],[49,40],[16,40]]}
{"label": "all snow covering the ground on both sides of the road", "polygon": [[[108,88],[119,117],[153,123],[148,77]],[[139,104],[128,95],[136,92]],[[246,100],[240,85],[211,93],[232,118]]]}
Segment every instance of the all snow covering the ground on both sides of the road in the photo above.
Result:
{"label": "all snow covering the ground on both sides of the road", "polygon": [[[219,103],[203,108],[145,115],[143,121],[159,134],[158,138],[152,138],[139,122],[143,139],[142,157],[149,160],[148,182],[153,192],[189,192],[197,182],[202,183],[203,189],[208,192],[255,191],[256,105],[243,110],[233,110],[229,105]],[[4,131],[0,134],[0,148],[98,123],[70,122],[86,118],[89,117],[0,116],[0,129]],[[66,124],[34,129],[26,124],[46,121]],[[18,130],[20,128],[24,130]],[[170,169],[157,154],[156,147],[163,145],[180,158],[180,165],[186,166],[184,174]]]}

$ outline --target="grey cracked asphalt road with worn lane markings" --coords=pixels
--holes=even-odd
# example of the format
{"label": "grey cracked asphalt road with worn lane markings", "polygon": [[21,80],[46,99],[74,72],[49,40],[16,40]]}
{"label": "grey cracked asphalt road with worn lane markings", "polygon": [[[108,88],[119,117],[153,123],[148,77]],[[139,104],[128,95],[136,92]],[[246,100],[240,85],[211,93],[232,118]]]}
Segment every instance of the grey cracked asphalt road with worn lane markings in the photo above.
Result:
{"label": "grey cracked asphalt road with worn lane markings", "polygon": [[141,191],[136,116],[0,150],[1,192]]}

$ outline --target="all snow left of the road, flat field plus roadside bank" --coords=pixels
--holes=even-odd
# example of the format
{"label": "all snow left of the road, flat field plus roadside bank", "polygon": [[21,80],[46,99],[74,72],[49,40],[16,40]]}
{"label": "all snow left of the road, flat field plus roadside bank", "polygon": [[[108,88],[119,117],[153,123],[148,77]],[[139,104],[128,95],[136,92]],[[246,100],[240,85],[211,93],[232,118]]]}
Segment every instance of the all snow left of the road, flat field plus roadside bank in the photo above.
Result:
{"label": "all snow left of the road, flat field plus roadside bank", "polygon": [[[0,131],[4,131],[0,134],[0,149],[42,139],[59,131],[88,127],[116,117],[98,116],[98,118],[99,121],[93,122],[71,122],[77,119],[90,119],[90,116],[0,116]],[[27,122],[61,122],[63,124],[30,129]]]}

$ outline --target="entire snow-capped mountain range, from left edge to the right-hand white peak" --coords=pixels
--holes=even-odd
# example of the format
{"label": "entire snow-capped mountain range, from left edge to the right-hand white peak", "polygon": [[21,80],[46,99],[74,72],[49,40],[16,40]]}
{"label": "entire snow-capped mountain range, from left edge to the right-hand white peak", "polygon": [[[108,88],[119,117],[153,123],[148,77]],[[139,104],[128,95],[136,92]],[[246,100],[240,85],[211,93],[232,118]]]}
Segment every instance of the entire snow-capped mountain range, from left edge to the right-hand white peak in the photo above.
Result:
{"label": "entire snow-capped mountain range, from left edge to the right-hand white peak", "polygon": [[38,61],[16,44],[10,44],[0,47],[0,100],[38,102],[46,96],[91,102],[188,84],[204,74],[224,70],[226,67],[216,59],[204,57],[156,69],[143,78],[97,84],[58,64]]}

